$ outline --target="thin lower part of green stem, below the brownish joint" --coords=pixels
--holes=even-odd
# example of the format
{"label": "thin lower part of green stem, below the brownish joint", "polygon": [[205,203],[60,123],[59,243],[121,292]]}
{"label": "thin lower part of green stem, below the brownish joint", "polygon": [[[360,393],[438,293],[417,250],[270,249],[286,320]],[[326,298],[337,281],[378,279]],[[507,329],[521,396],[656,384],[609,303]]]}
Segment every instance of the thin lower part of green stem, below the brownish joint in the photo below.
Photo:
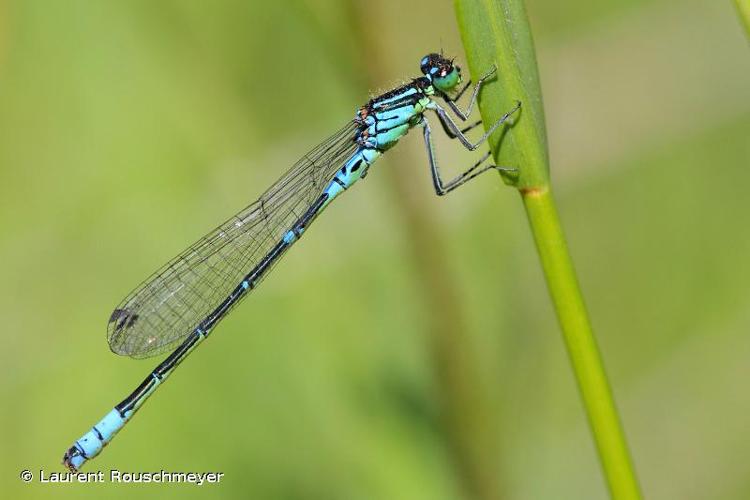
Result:
{"label": "thin lower part of green stem, below the brownish joint", "polygon": [[615,499],[641,498],[635,469],[549,189],[521,190],[565,346]]}

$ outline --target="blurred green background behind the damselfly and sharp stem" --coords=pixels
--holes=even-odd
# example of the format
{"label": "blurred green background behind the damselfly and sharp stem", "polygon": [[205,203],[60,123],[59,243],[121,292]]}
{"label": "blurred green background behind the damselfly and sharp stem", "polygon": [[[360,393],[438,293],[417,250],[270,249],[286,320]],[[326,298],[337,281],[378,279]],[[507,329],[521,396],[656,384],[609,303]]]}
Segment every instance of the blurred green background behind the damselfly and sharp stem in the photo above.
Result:
{"label": "blurred green background behind the damselfly and sharp stem", "polygon": [[[530,0],[553,178],[649,498],[750,497],[750,58],[731,2]],[[418,134],[85,470],[24,484],[157,360],[105,323],[443,48],[449,1],[0,2],[4,498],[588,499],[606,489],[516,193]],[[441,143],[446,172],[466,156]],[[450,168],[454,166],[454,168]]]}

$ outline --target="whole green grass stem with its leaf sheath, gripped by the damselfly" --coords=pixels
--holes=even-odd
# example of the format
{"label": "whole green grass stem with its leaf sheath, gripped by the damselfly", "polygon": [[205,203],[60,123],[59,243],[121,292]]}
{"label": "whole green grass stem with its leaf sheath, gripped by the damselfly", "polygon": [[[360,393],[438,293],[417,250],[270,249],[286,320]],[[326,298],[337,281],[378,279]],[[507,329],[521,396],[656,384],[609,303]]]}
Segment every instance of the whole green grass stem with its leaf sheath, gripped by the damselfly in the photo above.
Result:
{"label": "whole green grass stem with its leaf sheath, gripped by the damselfly", "polygon": [[498,70],[480,95],[485,128],[514,101],[523,104],[513,126],[493,134],[490,147],[497,165],[518,169],[504,180],[521,193],[610,495],[639,499],[635,469],[551,192],[541,89],[523,1],[456,0],[456,17],[474,80],[493,66]]}

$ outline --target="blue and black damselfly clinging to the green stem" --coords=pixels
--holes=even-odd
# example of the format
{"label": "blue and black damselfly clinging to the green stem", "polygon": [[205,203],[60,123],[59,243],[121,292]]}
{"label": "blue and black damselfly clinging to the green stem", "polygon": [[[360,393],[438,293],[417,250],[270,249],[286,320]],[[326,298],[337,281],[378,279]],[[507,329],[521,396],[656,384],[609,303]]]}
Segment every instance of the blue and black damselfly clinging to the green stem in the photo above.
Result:
{"label": "blue and black damselfly clinging to the green stem", "polygon": [[429,54],[422,59],[421,70],[422,76],[359,108],[353,120],[306,154],[258,201],[172,259],[117,306],[107,327],[112,351],[145,358],[174,350],[135,391],[68,449],[63,463],[70,470],[77,471],[99,454],[177,365],[258,286],[328,204],[363,178],[375,160],[411,128],[422,127],[438,195],[488,170],[503,170],[486,163],[490,156],[487,152],[468,170],[443,182],[425,116],[428,110],[435,112],[450,138],[475,150],[521,103],[472,143],[465,133],[481,122],[460,128],[437,99],[458,119],[467,121],[479,89],[495,69],[474,86],[465,111],[456,102],[471,82],[458,89],[461,69],[453,60]]}

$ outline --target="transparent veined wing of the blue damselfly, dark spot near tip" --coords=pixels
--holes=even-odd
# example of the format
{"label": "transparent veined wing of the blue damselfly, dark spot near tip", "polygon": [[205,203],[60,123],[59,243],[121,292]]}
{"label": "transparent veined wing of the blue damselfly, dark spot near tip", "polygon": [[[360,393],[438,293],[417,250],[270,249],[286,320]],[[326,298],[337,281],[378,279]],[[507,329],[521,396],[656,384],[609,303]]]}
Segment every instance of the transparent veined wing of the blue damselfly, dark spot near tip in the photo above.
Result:
{"label": "transparent veined wing of the blue damselfly, dark spot near tip", "polygon": [[348,123],[261,197],[172,259],[112,312],[113,352],[145,358],[181,342],[291,229],[356,151]]}

